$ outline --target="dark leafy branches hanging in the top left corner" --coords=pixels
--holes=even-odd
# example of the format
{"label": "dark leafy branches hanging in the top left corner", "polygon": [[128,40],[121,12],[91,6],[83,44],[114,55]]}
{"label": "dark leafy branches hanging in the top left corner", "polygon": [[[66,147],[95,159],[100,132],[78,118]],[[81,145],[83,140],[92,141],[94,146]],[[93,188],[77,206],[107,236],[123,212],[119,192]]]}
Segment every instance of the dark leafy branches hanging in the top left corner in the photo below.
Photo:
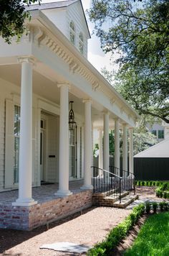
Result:
{"label": "dark leafy branches hanging in the top left corner", "polygon": [[41,0],[0,0],[0,36],[5,42],[11,43],[11,37],[16,35],[17,40],[26,31],[25,19],[31,15],[25,12],[25,6]]}

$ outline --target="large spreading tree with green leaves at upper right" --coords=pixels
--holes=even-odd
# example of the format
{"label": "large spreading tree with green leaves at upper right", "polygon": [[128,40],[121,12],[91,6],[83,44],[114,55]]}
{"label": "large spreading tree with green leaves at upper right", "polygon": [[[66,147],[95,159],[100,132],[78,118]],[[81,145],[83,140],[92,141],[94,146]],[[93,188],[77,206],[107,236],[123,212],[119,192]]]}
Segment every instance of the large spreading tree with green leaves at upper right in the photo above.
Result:
{"label": "large spreading tree with green leaves at upper right", "polygon": [[102,50],[120,54],[115,88],[140,114],[169,123],[169,1],[92,0],[89,14]]}

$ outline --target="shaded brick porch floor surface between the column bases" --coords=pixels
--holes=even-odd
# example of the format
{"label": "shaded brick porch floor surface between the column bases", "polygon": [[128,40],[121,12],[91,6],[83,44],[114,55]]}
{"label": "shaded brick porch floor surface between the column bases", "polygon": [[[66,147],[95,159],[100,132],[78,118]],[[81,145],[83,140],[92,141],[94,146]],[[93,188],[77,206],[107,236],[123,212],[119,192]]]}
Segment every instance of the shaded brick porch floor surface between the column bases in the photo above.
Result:
{"label": "shaded brick porch floor surface between the column bases", "polygon": [[[69,181],[69,190],[73,193],[78,193],[80,187],[83,185],[83,180]],[[59,183],[42,185],[40,187],[32,188],[32,198],[39,203],[44,201],[52,200],[54,198],[59,198],[55,196],[54,193],[57,192],[59,188]],[[0,205],[1,204],[11,204],[18,198],[18,189],[14,191],[6,191],[0,193]]]}

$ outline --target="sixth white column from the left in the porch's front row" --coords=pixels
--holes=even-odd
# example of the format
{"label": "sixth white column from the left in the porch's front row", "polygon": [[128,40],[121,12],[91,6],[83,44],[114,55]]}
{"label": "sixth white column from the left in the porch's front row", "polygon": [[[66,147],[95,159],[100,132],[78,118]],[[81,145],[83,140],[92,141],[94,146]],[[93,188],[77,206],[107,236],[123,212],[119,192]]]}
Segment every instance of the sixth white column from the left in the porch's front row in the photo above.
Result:
{"label": "sixth white column from the left in the porch's front row", "polygon": [[127,177],[127,125],[123,124],[122,128],[122,170],[126,171],[123,172],[122,175]]}

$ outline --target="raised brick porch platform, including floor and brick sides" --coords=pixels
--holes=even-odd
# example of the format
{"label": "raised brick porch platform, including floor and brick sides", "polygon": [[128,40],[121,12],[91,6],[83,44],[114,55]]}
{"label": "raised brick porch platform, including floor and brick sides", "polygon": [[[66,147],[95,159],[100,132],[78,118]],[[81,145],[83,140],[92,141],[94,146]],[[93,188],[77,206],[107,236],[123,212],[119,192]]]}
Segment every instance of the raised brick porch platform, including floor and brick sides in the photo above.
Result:
{"label": "raised brick porch platform, including floor and brick sides", "polygon": [[92,206],[92,190],[82,191],[83,180],[69,182],[72,195],[55,196],[57,183],[32,188],[33,206],[12,206],[18,190],[0,193],[0,228],[32,230]]}

